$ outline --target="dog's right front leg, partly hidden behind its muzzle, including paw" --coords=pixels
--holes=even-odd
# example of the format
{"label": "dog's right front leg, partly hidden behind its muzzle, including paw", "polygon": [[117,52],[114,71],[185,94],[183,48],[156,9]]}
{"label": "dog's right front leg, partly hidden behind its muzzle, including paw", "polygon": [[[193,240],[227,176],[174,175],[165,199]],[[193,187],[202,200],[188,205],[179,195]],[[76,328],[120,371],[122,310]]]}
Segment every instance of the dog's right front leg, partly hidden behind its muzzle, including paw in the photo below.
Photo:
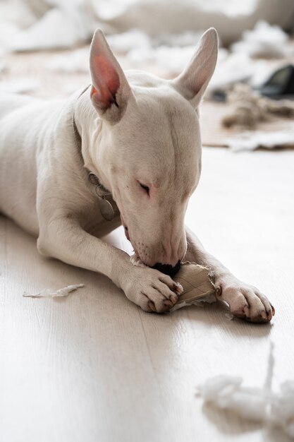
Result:
{"label": "dog's right front leg, partly hidden behind its muzzle, including paw", "polygon": [[216,298],[230,306],[231,313],[252,322],[267,322],[274,315],[274,307],[256,287],[238,280],[214,256],[205,251],[200,240],[186,227],[187,261],[210,267],[217,287]]}

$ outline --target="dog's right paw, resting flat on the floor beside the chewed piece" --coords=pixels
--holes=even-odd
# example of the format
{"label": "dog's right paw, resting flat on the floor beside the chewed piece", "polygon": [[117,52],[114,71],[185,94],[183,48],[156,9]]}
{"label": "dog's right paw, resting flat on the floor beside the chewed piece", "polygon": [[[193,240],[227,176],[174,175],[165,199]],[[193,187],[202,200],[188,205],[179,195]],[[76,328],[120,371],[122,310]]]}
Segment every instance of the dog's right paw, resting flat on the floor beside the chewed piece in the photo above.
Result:
{"label": "dog's right paw, resting flat on the floor beside the chewed piece", "polygon": [[235,277],[224,277],[216,282],[216,298],[228,304],[231,313],[246,321],[269,322],[275,314],[269,299],[259,289]]}

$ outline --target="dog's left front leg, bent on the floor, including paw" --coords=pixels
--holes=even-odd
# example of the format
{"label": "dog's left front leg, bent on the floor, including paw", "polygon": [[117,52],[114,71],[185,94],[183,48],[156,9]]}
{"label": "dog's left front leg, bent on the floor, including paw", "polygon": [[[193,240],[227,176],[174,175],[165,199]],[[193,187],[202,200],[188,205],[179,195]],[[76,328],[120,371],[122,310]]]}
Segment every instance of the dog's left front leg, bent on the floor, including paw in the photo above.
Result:
{"label": "dog's left front leg, bent on the floor, including paw", "polygon": [[178,286],[171,277],[136,267],[128,253],[85,232],[74,217],[60,217],[43,225],[37,247],[44,256],[103,273],[145,311],[162,313],[178,300]]}

